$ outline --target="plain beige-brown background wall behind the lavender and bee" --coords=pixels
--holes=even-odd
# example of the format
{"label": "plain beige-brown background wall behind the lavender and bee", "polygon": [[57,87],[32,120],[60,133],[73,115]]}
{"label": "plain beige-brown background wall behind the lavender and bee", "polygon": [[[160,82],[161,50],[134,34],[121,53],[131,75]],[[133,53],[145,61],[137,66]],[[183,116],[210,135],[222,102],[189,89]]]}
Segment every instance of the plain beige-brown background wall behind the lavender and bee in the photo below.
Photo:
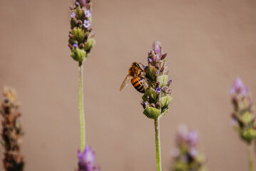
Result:
{"label": "plain beige-brown background wall behind the lavender and bee", "polygon": [[[0,86],[19,93],[26,170],[77,165],[78,70],[67,46],[71,4],[0,1]],[[83,75],[86,141],[103,170],[155,170],[153,120],[142,113],[140,93],[119,88],[130,63],[146,63],[156,38],[168,53],[174,89],[160,125],[163,170],[170,167],[180,123],[200,132],[210,170],[247,170],[247,146],[230,126],[229,88],[240,76],[256,97],[255,8],[249,0],[93,1],[97,43]]]}

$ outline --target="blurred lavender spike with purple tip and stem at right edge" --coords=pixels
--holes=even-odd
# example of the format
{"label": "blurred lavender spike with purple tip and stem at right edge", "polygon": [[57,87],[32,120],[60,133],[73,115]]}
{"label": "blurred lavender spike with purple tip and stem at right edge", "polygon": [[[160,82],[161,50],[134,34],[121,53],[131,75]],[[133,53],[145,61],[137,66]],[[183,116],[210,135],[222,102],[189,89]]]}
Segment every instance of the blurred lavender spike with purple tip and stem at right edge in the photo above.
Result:
{"label": "blurred lavender spike with purple tip and stem at right edge", "polygon": [[256,115],[255,107],[252,104],[250,88],[246,87],[240,78],[236,78],[230,88],[232,94],[232,125],[240,138],[247,142],[249,148],[250,171],[254,170],[253,165],[253,142],[256,139]]}

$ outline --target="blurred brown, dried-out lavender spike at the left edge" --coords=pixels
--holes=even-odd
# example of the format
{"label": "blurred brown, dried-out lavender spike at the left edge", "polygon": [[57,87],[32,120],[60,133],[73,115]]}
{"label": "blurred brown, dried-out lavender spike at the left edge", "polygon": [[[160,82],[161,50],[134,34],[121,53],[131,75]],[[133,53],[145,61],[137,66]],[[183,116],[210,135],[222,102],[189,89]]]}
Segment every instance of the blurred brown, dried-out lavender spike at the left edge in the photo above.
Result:
{"label": "blurred brown, dried-out lavender spike at the left edge", "polygon": [[24,168],[24,156],[20,154],[21,136],[24,132],[19,121],[21,113],[18,109],[15,90],[4,87],[0,113],[3,117],[1,144],[4,147],[3,164],[6,171],[22,171]]}

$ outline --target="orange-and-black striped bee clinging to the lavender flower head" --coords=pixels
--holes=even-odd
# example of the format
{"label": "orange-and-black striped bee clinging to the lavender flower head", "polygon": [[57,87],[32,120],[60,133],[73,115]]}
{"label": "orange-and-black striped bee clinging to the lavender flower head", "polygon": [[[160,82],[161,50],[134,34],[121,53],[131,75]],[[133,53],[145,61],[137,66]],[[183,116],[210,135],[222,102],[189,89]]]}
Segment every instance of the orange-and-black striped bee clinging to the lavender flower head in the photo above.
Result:
{"label": "orange-and-black striped bee clinging to the lavender flower head", "polygon": [[[141,63],[140,63],[141,64]],[[142,65],[142,64],[141,64]],[[140,68],[139,63],[132,63],[129,68],[128,75],[123,80],[121,84],[120,90],[123,90],[125,86],[128,86],[129,81],[132,83],[133,87],[138,90],[140,93],[145,93],[145,88],[147,87],[147,83],[145,83],[145,78],[143,76],[143,69]]]}

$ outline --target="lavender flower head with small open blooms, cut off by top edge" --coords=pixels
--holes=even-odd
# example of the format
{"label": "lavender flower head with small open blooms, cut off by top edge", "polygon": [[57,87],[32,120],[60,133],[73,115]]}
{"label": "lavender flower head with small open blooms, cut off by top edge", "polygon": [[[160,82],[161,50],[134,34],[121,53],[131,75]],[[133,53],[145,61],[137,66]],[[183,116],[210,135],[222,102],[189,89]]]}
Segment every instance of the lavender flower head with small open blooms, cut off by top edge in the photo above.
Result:
{"label": "lavender flower head with small open blooms, cut off by top edge", "polygon": [[80,64],[88,58],[95,44],[91,28],[91,0],[76,0],[71,9],[71,31],[69,31],[68,47],[71,57]]}

